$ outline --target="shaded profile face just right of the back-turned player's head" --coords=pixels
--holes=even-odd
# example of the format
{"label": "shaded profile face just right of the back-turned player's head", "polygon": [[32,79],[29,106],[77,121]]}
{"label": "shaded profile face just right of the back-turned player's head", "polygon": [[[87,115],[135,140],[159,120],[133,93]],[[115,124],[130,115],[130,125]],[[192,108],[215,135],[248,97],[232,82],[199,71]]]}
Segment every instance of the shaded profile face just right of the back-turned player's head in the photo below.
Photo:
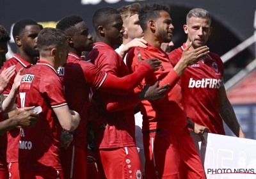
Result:
{"label": "shaded profile face just right of the back-turned player's head", "polygon": [[92,51],[93,40],[92,35],[89,33],[89,28],[84,21],[76,24],[76,30],[72,36],[74,41],[74,49],[78,52]]}

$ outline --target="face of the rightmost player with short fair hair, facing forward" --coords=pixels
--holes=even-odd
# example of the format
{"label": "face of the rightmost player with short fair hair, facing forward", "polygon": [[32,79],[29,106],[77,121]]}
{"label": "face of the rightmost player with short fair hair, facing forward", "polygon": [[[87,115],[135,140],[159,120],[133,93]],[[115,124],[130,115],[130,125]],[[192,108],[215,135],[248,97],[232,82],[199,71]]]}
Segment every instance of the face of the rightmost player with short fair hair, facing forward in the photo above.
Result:
{"label": "face of the rightmost player with short fair hair, facing forward", "polygon": [[191,17],[187,25],[184,25],[184,31],[188,35],[188,40],[192,42],[194,49],[202,47],[211,35],[212,27],[209,26],[208,19]]}

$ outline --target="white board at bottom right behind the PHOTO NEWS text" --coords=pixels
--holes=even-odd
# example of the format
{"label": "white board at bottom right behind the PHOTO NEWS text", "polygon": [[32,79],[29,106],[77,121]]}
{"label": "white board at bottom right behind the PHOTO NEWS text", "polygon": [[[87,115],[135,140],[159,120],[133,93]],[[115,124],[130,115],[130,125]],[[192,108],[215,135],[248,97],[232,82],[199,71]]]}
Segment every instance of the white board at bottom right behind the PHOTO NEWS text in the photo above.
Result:
{"label": "white board at bottom right behind the PHOTO NEWS text", "polygon": [[256,178],[256,140],[191,132],[208,179]]}

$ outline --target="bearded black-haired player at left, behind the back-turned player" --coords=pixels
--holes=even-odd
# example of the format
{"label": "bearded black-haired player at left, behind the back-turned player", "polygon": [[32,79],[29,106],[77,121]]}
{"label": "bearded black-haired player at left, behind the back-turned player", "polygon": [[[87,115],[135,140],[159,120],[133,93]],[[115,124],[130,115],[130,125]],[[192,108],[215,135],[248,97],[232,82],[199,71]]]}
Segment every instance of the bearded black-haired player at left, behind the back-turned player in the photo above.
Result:
{"label": "bearded black-haired player at left, behind the back-turned player", "polygon": [[[13,58],[8,59],[3,68],[8,68],[10,66],[15,66],[15,73],[10,79],[10,84],[8,88],[4,91],[4,97],[8,95],[13,95],[11,89],[13,88],[13,82],[16,75],[19,73],[19,70],[23,68],[23,73],[26,73],[32,64],[36,63],[36,57],[39,56],[39,51],[36,45],[37,35],[40,32],[40,27],[32,19],[21,19],[17,21],[13,26],[13,39],[17,45],[17,54],[14,54]],[[19,90],[14,91],[19,99]],[[13,103],[17,103],[14,101]],[[17,106],[20,108],[20,106]],[[16,109],[16,104],[14,106],[9,106],[4,109],[5,112]],[[19,178],[18,170],[18,148],[19,148],[19,128],[12,128],[7,132],[8,136],[8,146],[7,146],[7,162],[9,163],[9,172],[13,179]]]}

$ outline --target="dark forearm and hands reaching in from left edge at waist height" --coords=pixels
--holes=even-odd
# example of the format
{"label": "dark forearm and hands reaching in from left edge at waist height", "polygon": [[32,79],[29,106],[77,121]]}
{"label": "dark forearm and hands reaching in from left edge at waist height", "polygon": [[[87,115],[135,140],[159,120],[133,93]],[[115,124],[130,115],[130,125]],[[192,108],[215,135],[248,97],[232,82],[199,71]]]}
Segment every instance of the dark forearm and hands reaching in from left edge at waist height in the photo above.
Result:
{"label": "dark forearm and hands reaching in from left edge at waist height", "polygon": [[35,107],[27,107],[25,110],[17,109],[17,111],[4,114],[6,120],[0,123],[0,135],[16,126],[34,127],[38,120],[38,114],[36,112],[26,111],[33,108]]}

